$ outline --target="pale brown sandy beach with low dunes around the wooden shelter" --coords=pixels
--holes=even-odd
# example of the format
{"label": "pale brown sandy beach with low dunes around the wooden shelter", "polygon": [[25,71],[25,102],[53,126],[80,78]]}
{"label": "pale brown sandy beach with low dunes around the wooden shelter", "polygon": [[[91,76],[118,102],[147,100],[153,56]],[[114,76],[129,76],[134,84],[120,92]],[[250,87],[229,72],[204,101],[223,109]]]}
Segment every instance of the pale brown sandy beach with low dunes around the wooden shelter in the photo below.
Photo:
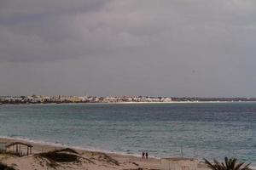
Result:
{"label": "pale brown sandy beach with low dunes around the wooden shelter", "polygon": [[[22,142],[31,144],[32,154],[29,156],[13,156],[10,154],[0,154],[0,162],[14,167],[19,170],[43,170],[43,169],[88,169],[88,170],[135,170],[135,169],[160,169],[160,160],[154,158],[148,158],[148,160],[141,159],[137,156],[123,156],[118,154],[107,154],[97,151],[89,150],[75,150],[77,153],[63,150],[62,153],[75,155],[78,157],[78,161],[73,162],[52,162],[51,160],[41,156],[40,154],[62,150],[63,147],[50,145],[50,144],[38,144],[27,142],[18,139],[0,139],[0,143],[11,144],[14,142]],[[26,153],[26,148],[22,148]]]}

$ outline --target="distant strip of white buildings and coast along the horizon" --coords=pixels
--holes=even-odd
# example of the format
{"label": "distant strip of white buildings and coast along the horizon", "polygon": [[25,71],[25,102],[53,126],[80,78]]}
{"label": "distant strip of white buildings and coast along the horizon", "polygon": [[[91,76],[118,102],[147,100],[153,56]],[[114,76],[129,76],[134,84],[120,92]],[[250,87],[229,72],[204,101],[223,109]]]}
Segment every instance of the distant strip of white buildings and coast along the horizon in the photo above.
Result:
{"label": "distant strip of white buildings and coast along the horizon", "polygon": [[114,97],[96,97],[96,96],[0,96],[0,104],[61,104],[61,103],[169,103],[169,102],[240,102],[256,101],[256,98],[189,98],[189,97],[148,97],[148,96],[114,96]]}

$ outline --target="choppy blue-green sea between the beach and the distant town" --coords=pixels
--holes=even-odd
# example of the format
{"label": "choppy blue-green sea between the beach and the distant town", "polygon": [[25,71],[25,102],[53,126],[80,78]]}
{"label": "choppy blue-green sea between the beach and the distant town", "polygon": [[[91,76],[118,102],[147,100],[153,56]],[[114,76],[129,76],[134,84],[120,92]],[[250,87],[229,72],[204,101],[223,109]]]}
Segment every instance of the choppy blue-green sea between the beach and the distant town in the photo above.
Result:
{"label": "choppy blue-green sea between the beach and the distant town", "polygon": [[125,155],[256,166],[256,103],[0,105],[0,136]]}

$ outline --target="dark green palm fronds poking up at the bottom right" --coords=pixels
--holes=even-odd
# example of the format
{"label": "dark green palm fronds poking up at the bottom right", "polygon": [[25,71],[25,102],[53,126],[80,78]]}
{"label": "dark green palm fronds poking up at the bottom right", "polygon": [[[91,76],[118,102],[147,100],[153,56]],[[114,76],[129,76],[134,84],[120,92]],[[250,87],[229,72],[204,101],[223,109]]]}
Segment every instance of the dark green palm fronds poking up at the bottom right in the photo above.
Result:
{"label": "dark green palm fronds poking up at the bottom right", "polygon": [[224,162],[219,162],[216,159],[213,159],[213,162],[204,159],[207,167],[212,170],[251,170],[249,164],[245,165],[244,162],[237,162],[236,158],[224,158]]}

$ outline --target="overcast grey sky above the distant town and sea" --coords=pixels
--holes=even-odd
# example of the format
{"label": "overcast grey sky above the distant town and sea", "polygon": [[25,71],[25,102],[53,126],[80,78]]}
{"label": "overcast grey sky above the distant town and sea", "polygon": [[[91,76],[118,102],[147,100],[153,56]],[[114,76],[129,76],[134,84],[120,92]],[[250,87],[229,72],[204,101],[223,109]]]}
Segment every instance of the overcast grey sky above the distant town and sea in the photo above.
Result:
{"label": "overcast grey sky above the distant town and sea", "polygon": [[0,0],[0,95],[256,97],[255,0]]}

